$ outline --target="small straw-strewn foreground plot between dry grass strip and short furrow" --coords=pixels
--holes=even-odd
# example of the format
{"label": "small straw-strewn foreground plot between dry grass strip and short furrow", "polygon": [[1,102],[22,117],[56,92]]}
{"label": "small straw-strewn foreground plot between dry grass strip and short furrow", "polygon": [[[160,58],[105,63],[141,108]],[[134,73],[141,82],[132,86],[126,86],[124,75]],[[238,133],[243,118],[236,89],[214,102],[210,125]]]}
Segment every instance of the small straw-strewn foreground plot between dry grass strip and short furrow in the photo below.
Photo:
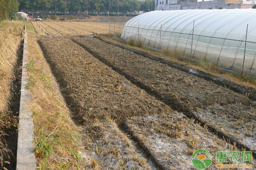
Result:
{"label": "small straw-strewn foreground plot between dry grass strip and short furrow", "polygon": [[111,119],[87,124],[82,137],[88,162],[86,169],[102,170],[151,170],[145,158],[135,151],[125,136]]}

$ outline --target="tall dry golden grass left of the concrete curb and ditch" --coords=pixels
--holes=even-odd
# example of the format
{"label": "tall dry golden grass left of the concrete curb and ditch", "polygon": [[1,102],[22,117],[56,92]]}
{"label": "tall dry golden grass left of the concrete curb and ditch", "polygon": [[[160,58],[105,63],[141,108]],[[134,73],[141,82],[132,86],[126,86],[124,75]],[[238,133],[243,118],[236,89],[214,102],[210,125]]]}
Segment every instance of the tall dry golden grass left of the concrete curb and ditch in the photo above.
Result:
{"label": "tall dry golden grass left of the concrete curb and ditch", "polygon": [[18,58],[17,50],[23,39],[22,26],[20,22],[3,21],[0,23],[0,167],[3,167],[3,163],[10,164],[3,158],[9,158],[12,154],[6,146],[5,136],[8,134],[4,131],[12,128],[16,122],[16,118],[9,114],[8,110],[9,99],[12,95],[10,90],[15,78],[13,69]]}

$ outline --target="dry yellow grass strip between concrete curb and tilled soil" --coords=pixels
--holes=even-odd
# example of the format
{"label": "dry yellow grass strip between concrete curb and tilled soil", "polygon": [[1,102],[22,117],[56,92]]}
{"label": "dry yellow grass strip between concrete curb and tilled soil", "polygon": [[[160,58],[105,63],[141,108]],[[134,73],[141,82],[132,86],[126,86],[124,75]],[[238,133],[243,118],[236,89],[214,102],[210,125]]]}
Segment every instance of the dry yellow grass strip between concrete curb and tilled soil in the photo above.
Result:
{"label": "dry yellow grass strip between concrete curb and tilled soil", "polygon": [[29,85],[38,168],[78,169],[79,128],[70,118],[64,98],[33,33],[29,32]]}

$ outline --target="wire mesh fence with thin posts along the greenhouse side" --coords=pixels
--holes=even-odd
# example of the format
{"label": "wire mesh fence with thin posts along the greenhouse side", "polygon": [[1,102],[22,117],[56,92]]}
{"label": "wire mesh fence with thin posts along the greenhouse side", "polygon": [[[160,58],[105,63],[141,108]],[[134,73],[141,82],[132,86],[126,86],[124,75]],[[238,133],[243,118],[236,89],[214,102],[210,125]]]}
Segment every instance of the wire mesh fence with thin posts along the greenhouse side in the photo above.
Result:
{"label": "wire mesh fence with thin posts along the greenhouse side", "polygon": [[[192,29],[146,29],[124,26],[122,39],[141,41],[156,50],[176,51],[184,57],[207,60],[228,71],[256,77],[256,36]],[[244,65],[244,66],[243,66]]]}

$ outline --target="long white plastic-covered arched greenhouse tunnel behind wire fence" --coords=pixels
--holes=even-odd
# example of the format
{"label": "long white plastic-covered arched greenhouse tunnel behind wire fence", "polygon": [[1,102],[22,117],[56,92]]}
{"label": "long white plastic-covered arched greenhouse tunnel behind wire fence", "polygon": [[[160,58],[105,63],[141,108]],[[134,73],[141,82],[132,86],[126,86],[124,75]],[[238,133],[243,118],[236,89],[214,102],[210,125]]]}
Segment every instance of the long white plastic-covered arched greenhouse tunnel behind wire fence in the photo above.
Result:
{"label": "long white plastic-covered arched greenhouse tunnel behind wire fence", "polygon": [[121,37],[256,77],[255,16],[256,9],[151,11],[125,23]]}

